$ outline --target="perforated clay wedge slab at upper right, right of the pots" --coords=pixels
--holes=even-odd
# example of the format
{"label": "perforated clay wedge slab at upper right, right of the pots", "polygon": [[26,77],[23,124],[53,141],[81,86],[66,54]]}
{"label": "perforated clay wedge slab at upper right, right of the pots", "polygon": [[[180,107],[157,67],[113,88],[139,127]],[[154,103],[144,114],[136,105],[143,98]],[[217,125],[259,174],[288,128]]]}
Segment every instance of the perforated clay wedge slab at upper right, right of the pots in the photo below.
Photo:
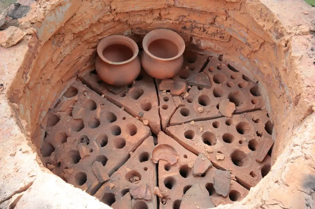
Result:
{"label": "perforated clay wedge slab at upper right, right of the pots", "polygon": [[[235,104],[234,114],[260,110],[264,105],[258,84],[219,58],[211,57],[203,73],[209,77],[211,87],[192,86],[189,96],[184,99],[184,105],[172,116],[171,126],[222,117],[219,104],[224,99]],[[203,108],[203,111],[199,112],[198,108]]]}

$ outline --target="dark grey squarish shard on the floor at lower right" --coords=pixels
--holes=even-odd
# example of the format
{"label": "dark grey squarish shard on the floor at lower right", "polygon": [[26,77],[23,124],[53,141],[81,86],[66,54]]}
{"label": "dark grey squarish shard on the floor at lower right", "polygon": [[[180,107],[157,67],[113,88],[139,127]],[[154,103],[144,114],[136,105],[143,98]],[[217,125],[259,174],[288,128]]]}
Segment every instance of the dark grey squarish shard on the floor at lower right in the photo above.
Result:
{"label": "dark grey squarish shard on the floor at lower right", "polygon": [[214,189],[218,195],[227,196],[230,191],[231,174],[230,171],[216,170],[214,177]]}

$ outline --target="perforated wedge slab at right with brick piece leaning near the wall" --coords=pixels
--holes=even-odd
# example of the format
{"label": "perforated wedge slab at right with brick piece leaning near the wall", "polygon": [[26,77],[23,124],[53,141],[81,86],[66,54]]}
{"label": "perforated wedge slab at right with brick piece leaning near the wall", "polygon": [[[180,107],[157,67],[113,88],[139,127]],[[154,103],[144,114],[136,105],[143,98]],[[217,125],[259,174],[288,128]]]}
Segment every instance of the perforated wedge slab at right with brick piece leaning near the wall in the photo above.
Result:
{"label": "perforated wedge slab at right with brick piece leaning near the wall", "polygon": [[[267,153],[273,144],[272,128],[267,112],[260,110],[170,126],[166,133],[191,152],[209,156],[215,167],[230,170],[249,188],[264,177],[264,166],[270,167]],[[257,162],[256,158],[263,160]]]}

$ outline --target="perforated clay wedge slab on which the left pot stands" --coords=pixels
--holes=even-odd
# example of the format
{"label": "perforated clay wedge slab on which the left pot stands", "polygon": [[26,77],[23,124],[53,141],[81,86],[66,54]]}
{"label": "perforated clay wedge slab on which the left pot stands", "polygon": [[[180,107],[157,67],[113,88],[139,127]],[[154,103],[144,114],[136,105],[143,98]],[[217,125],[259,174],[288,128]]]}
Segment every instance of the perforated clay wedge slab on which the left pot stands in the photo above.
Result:
{"label": "perforated clay wedge slab on which the left pot stands", "polygon": [[[134,83],[123,87],[113,87],[102,82],[98,75],[90,73],[83,77],[83,82],[99,94],[140,121],[148,120],[151,131],[157,134],[161,131],[159,103],[154,79],[144,71]],[[111,89],[111,90],[109,90]],[[115,94],[116,93],[116,94]]]}

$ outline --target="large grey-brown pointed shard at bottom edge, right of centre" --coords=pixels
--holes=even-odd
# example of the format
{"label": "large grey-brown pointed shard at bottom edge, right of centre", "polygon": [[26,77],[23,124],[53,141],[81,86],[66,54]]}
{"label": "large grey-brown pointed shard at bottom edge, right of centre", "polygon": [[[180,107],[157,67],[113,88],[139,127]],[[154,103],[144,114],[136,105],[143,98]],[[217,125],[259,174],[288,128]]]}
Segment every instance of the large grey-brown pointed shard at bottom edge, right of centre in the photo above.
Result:
{"label": "large grey-brown pointed shard at bottom edge, right of centre", "polygon": [[209,198],[209,193],[203,192],[200,187],[200,185],[195,184],[186,191],[180,203],[180,209],[207,209],[215,207]]}

